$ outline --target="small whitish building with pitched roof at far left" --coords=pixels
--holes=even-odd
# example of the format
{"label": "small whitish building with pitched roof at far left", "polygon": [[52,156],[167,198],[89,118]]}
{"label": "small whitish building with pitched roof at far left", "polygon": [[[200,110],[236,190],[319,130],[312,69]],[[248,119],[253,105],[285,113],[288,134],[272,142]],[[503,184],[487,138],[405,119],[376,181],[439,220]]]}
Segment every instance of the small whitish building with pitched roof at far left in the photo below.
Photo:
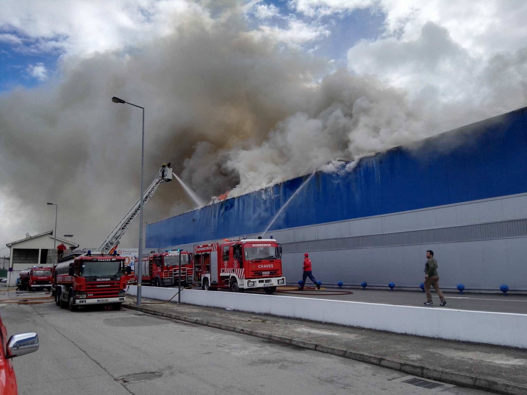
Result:
{"label": "small whitish building with pitched roof at far left", "polygon": [[7,243],[6,245],[11,249],[7,284],[9,286],[15,285],[18,273],[31,266],[53,266],[56,262],[56,250],[53,249],[54,242],[55,248],[58,244],[64,243],[67,248],[66,251],[75,250],[79,246],[72,241],[54,237],[53,231],[35,236],[26,233],[24,239]]}

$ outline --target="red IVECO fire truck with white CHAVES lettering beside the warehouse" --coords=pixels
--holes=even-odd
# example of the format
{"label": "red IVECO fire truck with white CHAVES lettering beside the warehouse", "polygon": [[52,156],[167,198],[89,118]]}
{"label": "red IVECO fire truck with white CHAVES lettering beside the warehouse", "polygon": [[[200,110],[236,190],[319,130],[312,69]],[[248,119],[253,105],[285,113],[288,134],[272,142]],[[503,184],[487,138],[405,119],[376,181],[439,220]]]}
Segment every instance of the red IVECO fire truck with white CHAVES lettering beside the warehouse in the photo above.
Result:
{"label": "red IVECO fire truck with white CHAVES lettering beside the warehouse", "polygon": [[224,239],[194,245],[194,270],[203,290],[273,293],[278,285],[286,284],[281,258],[282,246],[275,239]]}

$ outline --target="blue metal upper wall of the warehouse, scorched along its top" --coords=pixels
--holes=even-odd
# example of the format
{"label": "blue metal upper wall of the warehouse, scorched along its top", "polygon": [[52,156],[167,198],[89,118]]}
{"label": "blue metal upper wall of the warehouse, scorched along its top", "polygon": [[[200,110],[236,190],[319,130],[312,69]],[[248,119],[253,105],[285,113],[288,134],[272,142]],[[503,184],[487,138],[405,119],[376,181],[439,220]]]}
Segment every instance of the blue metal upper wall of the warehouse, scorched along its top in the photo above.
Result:
{"label": "blue metal upper wall of the warehouse, scorched along its top", "polygon": [[[527,192],[527,107],[318,172],[270,230]],[[147,248],[262,232],[308,176],[147,225]]]}

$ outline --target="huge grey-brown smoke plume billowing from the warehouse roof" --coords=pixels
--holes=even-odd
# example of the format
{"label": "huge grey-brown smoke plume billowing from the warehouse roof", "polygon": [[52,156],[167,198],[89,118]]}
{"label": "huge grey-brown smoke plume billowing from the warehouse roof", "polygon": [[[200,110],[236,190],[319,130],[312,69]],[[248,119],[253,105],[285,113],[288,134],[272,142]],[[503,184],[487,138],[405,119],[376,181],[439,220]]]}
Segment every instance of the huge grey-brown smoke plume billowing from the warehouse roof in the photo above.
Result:
{"label": "huge grey-brown smoke plume billowing from the warehouse roof", "polygon": [[[356,70],[354,56],[364,60],[367,43],[348,53],[348,68],[333,70],[326,58],[251,34],[237,3],[225,3],[232,9],[220,17],[189,8],[169,35],[126,54],[65,58],[42,85],[0,95],[4,242],[52,229],[54,212],[45,203],[54,202],[58,235],[96,246],[138,199],[141,111],[112,103],[112,96],[145,107],[145,186],[171,162],[206,201],[525,104],[527,90],[518,88],[527,76],[525,49],[474,68],[472,88],[446,100],[434,85],[408,91],[368,74],[367,66]],[[437,35],[433,28],[423,36]],[[472,56],[453,53],[457,61]],[[514,86],[513,94],[502,83]],[[173,181],[159,187],[144,219],[192,208]],[[138,226],[122,245],[136,243]]]}

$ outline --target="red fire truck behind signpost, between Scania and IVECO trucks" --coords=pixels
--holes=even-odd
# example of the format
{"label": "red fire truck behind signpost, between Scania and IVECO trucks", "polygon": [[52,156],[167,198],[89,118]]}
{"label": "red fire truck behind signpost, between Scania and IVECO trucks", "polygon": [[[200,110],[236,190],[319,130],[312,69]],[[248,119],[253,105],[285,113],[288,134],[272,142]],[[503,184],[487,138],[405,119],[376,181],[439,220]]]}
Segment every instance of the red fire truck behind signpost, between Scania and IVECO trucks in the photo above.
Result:
{"label": "red fire truck behind signpost, between Scania and IVECO trucks", "polygon": [[192,284],[194,269],[192,254],[187,251],[167,250],[143,255],[142,283],[154,287],[173,287],[179,282],[179,256],[181,255],[181,284]]}

